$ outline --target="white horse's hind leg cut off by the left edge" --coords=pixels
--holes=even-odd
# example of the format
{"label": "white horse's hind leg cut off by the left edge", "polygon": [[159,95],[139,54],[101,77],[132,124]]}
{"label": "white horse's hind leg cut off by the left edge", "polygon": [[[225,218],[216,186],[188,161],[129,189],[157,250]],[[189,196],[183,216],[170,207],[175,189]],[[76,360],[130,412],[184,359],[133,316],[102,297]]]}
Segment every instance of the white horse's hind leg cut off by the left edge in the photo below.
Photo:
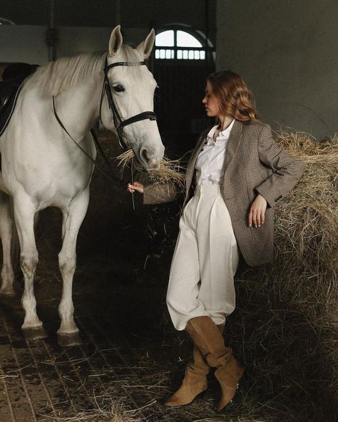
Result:
{"label": "white horse's hind leg cut off by the left edge", "polygon": [[0,192],[0,237],[2,242],[2,270],[1,270],[1,294],[14,295],[14,271],[11,263],[11,243],[13,220],[10,212],[10,198],[4,192]]}

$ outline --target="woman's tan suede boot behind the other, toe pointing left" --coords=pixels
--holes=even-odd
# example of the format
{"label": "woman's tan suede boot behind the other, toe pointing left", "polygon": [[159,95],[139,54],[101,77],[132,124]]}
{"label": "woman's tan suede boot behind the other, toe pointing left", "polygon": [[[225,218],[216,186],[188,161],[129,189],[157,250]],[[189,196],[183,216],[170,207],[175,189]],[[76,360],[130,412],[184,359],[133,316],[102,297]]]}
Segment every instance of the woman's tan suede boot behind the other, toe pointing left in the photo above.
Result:
{"label": "woman's tan suede boot behind the other, toe pointing left", "polygon": [[[222,333],[224,326],[225,324],[217,325],[217,329]],[[209,371],[210,365],[194,344],[193,362],[190,362],[185,368],[185,376],[180,388],[165,401],[165,405],[184,406],[191,403],[198,394],[208,388],[207,375]]]}

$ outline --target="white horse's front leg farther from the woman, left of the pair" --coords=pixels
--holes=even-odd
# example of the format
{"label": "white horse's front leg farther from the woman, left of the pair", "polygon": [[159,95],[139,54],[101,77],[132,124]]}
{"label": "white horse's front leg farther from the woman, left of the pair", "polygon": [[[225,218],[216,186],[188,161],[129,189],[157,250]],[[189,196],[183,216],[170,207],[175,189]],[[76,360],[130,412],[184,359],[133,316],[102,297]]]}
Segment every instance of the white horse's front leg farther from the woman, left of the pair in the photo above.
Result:
{"label": "white horse's front leg farther from the woman, left of the pair", "polygon": [[30,197],[14,198],[14,216],[21,246],[20,265],[24,274],[24,294],[21,303],[25,318],[21,328],[26,339],[36,340],[46,337],[42,322],[36,315],[36,299],[34,297],[34,273],[39,262],[34,237],[35,207]]}

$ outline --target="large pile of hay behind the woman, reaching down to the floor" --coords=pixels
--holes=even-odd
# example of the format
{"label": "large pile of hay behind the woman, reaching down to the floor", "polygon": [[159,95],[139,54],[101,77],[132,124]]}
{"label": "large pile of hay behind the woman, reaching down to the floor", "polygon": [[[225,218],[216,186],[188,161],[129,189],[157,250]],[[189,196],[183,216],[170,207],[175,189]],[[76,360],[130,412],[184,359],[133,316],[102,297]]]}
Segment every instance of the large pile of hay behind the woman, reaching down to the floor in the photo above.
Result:
{"label": "large pile of hay behind the woman, reaching down to the floor", "polygon": [[277,142],[307,169],[276,206],[275,262],[238,274],[225,336],[249,367],[239,415],[333,421],[338,138],[318,143],[305,133],[279,133]]}

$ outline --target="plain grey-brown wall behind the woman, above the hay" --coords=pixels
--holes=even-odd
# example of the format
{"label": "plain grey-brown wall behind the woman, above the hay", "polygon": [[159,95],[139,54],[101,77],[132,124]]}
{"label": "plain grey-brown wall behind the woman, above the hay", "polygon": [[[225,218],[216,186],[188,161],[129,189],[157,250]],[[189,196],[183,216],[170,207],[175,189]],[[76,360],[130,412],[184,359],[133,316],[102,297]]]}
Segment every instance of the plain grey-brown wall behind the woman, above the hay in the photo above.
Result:
{"label": "plain grey-brown wall behind the woman, above the hay", "polygon": [[332,136],[337,21],[337,0],[217,0],[217,69],[240,73],[272,127]]}

